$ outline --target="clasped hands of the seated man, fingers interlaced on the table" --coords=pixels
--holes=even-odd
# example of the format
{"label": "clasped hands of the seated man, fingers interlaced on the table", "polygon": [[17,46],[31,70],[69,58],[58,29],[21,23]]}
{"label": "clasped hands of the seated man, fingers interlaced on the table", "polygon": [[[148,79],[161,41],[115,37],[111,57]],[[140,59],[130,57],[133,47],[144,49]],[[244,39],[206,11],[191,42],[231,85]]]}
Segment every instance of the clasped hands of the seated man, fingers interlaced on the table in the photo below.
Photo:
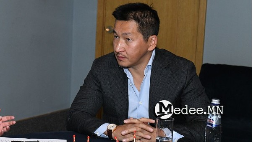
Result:
{"label": "clasped hands of the seated man, fingers interlaced on the table", "polygon": [[149,125],[154,123],[155,120],[149,118],[140,119],[125,119],[125,124],[119,125],[112,133],[113,137],[117,137],[119,141],[129,142],[133,141],[133,134],[136,131],[136,141],[156,141],[156,128]]}

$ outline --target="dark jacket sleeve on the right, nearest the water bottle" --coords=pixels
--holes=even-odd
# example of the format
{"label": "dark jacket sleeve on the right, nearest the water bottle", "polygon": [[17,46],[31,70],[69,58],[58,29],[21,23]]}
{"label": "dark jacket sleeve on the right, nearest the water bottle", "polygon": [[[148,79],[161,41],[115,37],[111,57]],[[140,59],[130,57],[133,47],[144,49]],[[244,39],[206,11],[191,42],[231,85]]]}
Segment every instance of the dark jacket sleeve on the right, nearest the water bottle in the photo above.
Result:
{"label": "dark jacket sleeve on the right, nearest the water bottle", "polygon": [[[204,87],[196,74],[196,68],[191,62],[188,66],[185,86],[181,95],[181,106],[184,108],[187,105],[188,110],[190,108],[202,108],[202,112],[207,112],[209,103]],[[186,123],[175,125],[175,130],[184,135],[184,138],[179,139],[178,142],[203,142],[207,114],[185,114],[184,116]]]}

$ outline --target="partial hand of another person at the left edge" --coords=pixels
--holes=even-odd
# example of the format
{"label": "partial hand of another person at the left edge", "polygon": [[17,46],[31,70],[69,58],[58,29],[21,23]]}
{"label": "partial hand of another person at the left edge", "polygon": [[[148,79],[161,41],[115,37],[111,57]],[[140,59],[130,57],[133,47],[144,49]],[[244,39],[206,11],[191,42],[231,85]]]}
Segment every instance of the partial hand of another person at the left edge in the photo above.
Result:
{"label": "partial hand of another person at the left edge", "polygon": [[0,136],[2,136],[5,132],[8,132],[10,130],[10,126],[16,123],[15,121],[9,121],[13,119],[13,116],[0,116]]}

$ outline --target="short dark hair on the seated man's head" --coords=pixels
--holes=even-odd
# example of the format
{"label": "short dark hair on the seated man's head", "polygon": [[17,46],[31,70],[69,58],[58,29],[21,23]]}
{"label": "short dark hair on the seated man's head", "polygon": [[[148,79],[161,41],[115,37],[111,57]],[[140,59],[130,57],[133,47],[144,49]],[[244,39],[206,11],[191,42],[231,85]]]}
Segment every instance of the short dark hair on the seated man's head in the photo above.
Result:
{"label": "short dark hair on the seated man's head", "polygon": [[112,13],[115,20],[133,20],[138,24],[138,32],[143,35],[144,41],[149,36],[158,35],[160,20],[157,11],[144,3],[128,3],[120,5]]}

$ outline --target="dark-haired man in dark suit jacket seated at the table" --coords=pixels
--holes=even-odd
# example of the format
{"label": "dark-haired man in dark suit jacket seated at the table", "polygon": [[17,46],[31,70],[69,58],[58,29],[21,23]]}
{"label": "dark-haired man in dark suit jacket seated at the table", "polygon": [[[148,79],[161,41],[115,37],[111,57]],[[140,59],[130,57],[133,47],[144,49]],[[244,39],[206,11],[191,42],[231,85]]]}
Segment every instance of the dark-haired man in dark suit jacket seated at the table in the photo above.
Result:
{"label": "dark-haired man in dark suit jacket seated at the table", "polygon": [[[132,141],[136,130],[136,140],[156,141],[154,107],[159,101],[170,101],[180,109],[185,105],[206,109],[209,99],[191,61],[156,48],[157,11],[143,3],[130,3],[112,15],[116,18],[114,52],[94,60],[71,105],[67,129],[123,142]],[[103,118],[97,119],[101,106]],[[172,117],[173,139],[204,140],[207,116]]]}

